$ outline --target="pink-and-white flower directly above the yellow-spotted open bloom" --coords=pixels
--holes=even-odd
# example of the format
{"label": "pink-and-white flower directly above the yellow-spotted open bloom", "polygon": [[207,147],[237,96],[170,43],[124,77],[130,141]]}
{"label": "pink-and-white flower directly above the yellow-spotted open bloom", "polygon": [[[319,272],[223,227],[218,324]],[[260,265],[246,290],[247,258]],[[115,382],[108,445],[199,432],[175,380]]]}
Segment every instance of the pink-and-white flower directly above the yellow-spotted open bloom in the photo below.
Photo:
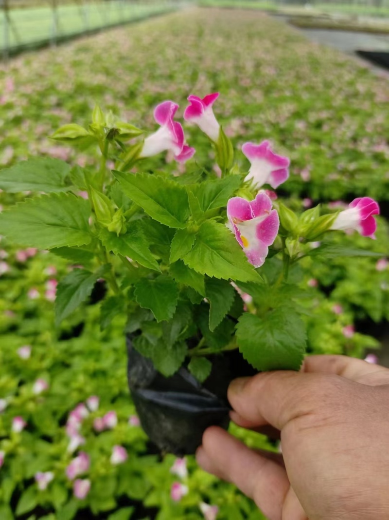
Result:
{"label": "pink-and-white flower directly above the yellow-spotted open bloom", "polygon": [[242,152],[251,162],[251,167],[245,180],[251,180],[256,189],[264,184],[278,188],[289,177],[289,159],[275,154],[270,149],[270,142],[263,141],[260,145],[245,142]]}

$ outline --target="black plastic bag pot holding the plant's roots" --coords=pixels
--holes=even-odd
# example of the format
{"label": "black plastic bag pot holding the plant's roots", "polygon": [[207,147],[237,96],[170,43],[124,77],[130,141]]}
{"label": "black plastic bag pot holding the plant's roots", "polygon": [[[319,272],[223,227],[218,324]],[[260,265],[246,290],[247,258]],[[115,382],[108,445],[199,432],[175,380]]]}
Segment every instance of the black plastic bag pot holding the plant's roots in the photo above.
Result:
{"label": "black plastic bag pot holding the plant's roots", "polygon": [[128,382],[142,427],[161,451],[179,457],[196,452],[207,427],[228,427],[228,385],[241,375],[255,373],[233,351],[213,356],[212,372],[203,384],[185,367],[165,378],[133,348],[130,336],[127,350]]}

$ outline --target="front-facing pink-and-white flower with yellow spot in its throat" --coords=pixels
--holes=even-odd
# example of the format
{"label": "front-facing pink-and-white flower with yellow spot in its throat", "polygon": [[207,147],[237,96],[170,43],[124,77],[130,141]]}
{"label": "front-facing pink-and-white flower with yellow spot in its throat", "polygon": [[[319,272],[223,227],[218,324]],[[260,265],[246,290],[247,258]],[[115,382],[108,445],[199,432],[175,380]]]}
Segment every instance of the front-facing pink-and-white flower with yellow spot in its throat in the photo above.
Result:
{"label": "front-facing pink-and-white flower with yellow spot in its throat", "polygon": [[233,197],[227,203],[227,216],[248,261],[254,267],[260,267],[280,226],[278,213],[272,210],[272,201],[266,193],[258,193],[251,202]]}

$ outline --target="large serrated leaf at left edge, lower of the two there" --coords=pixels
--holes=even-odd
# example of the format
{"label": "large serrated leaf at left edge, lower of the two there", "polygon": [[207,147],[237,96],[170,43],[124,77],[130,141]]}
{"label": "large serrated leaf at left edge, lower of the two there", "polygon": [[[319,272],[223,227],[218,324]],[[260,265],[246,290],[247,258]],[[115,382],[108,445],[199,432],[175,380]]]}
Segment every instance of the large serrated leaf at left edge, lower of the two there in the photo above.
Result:
{"label": "large serrated leaf at left edge, lower of the two there", "polygon": [[27,199],[0,215],[0,233],[39,249],[85,245],[91,241],[89,202],[71,193]]}

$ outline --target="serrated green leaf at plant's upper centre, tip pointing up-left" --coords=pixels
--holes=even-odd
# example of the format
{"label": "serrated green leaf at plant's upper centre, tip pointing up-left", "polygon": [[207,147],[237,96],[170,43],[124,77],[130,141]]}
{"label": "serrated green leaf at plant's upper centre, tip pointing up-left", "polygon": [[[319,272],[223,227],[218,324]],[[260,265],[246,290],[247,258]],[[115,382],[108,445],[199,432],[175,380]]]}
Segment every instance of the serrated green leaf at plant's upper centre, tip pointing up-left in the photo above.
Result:
{"label": "serrated green leaf at plant's upper centre, tip pointing up-left", "polygon": [[173,228],[185,228],[189,216],[186,190],[172,180],[150,174],[125,174],[113,171],[121,188],[151,218]]}

